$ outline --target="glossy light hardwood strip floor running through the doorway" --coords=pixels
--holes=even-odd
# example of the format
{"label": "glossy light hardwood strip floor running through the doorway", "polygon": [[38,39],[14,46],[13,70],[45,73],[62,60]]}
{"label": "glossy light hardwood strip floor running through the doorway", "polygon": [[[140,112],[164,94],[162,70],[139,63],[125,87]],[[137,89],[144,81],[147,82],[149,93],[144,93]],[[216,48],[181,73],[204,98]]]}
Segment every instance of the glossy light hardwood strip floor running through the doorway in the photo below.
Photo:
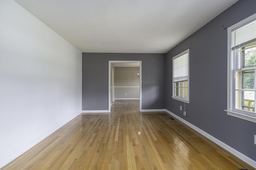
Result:
{"label": "glossy light hardwood strip floor running through the doorway", "polygon": [[2,169],[254,169],[170,117],[116,101],[111,113],[77,116]]}

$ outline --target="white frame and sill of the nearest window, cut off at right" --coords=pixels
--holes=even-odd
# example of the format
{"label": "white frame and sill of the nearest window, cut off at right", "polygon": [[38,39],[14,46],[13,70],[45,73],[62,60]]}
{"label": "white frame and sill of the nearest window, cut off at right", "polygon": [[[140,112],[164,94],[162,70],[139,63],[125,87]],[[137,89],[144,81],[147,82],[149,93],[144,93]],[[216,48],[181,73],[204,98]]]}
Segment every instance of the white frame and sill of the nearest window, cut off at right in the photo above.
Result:
{"label": "white frame and sill of the nearest window, cut off at right", "polygon": [[240,109],[236,109],[235,106],[235,88],[234,84],[236,83],[235,78],[234,78],[234,59],[232,58],[232,49],[231,49],[231,40],[232,40],[232,33],[231,31],[233,29],[237,29],[238,27],[242,27],[243,25],[246,25],[256,19],[256,14],[232,25],[231,27],[228,27],[228,96],[227,96],[227,110],[224,110],[227,112],[228,115],[238,117],[240,119],[244,119],[247,121],[251,121],[256,123],[256,114],[249,112],[249,111],[244,111]]}

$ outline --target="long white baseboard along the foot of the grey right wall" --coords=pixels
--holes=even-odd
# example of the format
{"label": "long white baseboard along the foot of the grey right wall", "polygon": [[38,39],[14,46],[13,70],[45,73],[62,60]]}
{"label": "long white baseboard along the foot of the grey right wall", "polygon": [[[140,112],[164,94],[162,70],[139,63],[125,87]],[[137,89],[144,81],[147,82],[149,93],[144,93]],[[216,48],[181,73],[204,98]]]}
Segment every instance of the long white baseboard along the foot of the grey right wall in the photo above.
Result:
{"label": "long white baseboard along the foot of the grey right wall", "polygon": [[205,137],[207,137],[208,139],[210,139],[211,141],[213,141],[214,143],[216,143],[217,145],[219,145],[220,147],[228,150],[228,152],[234,154],[236,157],[240,158],[241,160],[243,160],[244,162],[246,162],[247,164],[249,164],[250,166],[253,166],[254,168],[256,168],[256,161],[252,160],[251,158],[249,158],[248,156],[242,154],[241,152],[238,152],[237,150],[235,150],[234,148],[228,146],[226,143],[223,143],[222,141],[216,139],[215,137],[213,137],[212,135],[206,133],[205,131],[203,131],[202,129],[199,129],[198,127],[196,127],[195,125],[192,125],[191,123],[189,123],[188,121],[182,119],[181,117],[175,115],[174,113],[172,113],[169,110],[165,110],[167,113],[169,113],[170,115],[172,115],[173,117],[175,117],[176,119],[182,121],[183,123],[185,123],[186,125],[188,125],[189,127],[191,127],[192,129],[194,129],[195,131],[197,131],[198,133],[204,135]]}

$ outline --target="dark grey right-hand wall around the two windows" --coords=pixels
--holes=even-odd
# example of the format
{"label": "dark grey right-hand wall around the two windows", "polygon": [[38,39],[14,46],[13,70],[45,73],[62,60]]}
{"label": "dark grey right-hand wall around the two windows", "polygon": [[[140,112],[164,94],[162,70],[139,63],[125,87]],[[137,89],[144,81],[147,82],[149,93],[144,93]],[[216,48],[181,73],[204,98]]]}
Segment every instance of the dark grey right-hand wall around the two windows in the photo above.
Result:
{"label": "dark grey right-hand wall around the two windows", "polygon": [[[227,27],[256,13],[240,0],[166,54],[166,109],[256,161],[256,123],[227,115]],[[172,96],[172,57],[190,49],[190,103]]]}

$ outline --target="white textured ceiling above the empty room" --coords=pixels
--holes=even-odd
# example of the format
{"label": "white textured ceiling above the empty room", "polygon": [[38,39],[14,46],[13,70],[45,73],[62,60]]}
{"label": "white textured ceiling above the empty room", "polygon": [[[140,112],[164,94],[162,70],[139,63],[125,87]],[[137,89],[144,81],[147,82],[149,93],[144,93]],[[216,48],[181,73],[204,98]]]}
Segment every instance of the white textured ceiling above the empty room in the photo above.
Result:
{"label": "white textured ceiling above the empty room", "polygon": [[238,0],[15,1],[81,52],[166,53]]}

